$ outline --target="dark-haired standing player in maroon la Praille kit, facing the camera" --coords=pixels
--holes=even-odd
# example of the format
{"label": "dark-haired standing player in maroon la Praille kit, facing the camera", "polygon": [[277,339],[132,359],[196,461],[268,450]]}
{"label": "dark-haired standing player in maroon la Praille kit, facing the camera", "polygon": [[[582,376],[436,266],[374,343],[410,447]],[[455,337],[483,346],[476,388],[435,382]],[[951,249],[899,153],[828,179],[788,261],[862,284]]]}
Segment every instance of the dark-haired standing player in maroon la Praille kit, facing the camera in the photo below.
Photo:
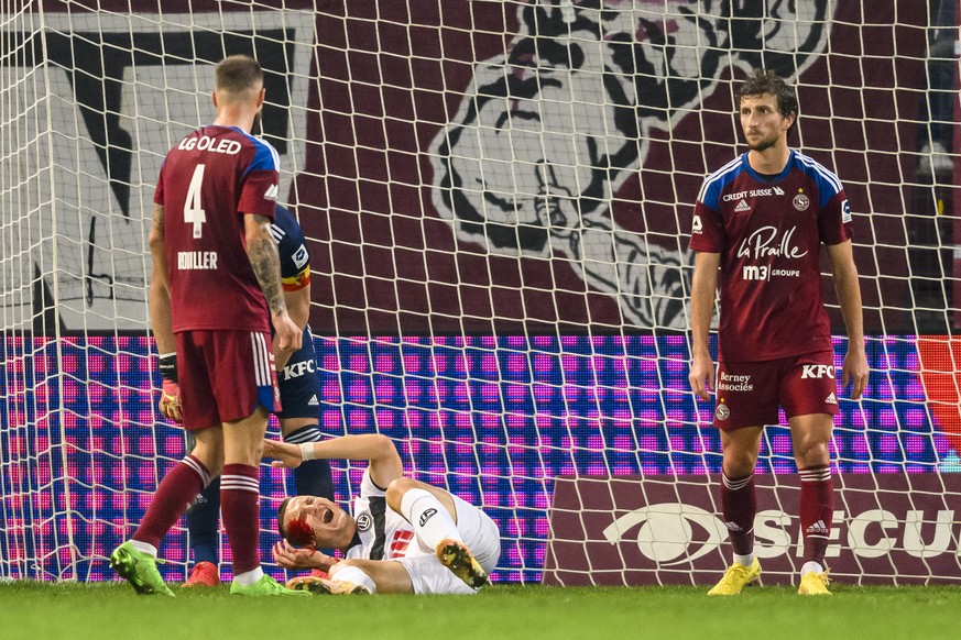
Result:
{"label": "dark-haired standing player in maroon la Praille kit, facing the camera", "polygon": [[[764,424],[778,407],[788,419],[800,474],[804,565],[798,593],[830,594],[825,552],[833,484],[829,443],[838,412],[831,325],[821,295],[820,245],[827,247],[848,329],[842,385],[858,399],[867,384],[861,291],[851,249],[851,210],[838,177],[788,146],[797,120],[794,89],[756,70],[738,93],[749,151],[707,177],[698,195],[690,247],[691,389],[708,399],[716,384],[721,430],[721,510],[734,562],[710,595],[756,583],[754,467]],[[708,333],[720,284],[718,375]]]}

